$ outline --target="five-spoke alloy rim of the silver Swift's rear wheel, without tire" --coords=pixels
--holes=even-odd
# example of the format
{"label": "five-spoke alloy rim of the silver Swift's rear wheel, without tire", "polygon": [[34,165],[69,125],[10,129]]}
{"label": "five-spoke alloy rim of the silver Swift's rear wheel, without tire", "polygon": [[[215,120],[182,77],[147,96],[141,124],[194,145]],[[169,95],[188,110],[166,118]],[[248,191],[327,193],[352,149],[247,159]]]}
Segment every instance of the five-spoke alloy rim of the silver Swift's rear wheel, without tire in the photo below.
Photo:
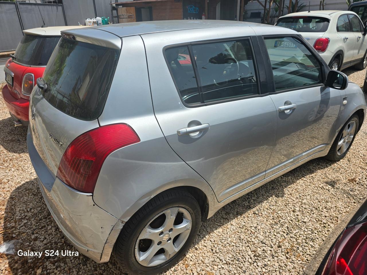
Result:
{"label": "five-spoke alloy rim of the silver Swift's rear wheel, without tire", "polygon": [[192,217],[182,207],[172,207],[157,214],[140,232],[135,244],[139,264],[153,267],[172,258],[187,241]]}

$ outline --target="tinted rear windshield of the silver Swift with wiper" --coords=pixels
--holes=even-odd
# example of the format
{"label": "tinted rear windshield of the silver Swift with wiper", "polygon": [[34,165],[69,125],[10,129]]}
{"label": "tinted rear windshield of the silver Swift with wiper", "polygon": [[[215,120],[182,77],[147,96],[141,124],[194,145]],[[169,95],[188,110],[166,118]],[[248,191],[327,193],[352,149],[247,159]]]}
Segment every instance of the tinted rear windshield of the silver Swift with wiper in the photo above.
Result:
{"label": "tinted rear windshield of the silver Swift with wiper", "polygon": [[120,51],[61,38],[44,71],[46,100],[81,120],[101,115]]}

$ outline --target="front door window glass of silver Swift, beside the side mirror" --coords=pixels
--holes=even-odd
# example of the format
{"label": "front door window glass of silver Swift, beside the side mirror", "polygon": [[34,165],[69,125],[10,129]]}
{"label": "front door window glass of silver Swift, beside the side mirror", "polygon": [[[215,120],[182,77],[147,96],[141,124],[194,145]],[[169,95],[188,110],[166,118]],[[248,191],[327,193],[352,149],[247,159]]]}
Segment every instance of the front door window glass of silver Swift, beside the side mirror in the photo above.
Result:
{"label": "front door window glass of silver Swift, beside the side mirror", "polygon": [[265,38],[276,91],[322,83],[321,65],[304,44],[293,37]]}

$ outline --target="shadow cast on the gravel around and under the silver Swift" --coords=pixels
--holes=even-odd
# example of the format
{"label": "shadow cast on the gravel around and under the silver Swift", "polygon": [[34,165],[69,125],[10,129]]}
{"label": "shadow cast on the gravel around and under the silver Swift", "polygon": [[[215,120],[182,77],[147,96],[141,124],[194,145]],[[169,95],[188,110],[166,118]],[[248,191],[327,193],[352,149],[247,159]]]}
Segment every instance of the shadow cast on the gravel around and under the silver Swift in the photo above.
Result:
{"label": "shadow cast on the gravel around and under the silver Swift", "polygon": [[[193,245],[197,245],[213,230],[229,223],[272,196],[283,197],[284,189],[302,177],[333,164],[325,159],[314,159],[286,173],[279,178],[257,188],[243,197],[229,203],[201,225],[199,235]],[[19,240],[23,251],[71,250],[76,249],[58,229],[43,201],[36,179],[27,181],[12,191],[4,213],[3,241]],[[0,257],[5,257],[4,254]],[[109,263],[97,264],[80,254],[77,257],[20,257],[6,255],[12,274],[121,274],[114,257]],[[66,267],[70,267],[66,268]],[[65,271],[66,268],[66,271]],[[58,273],[57,273],[58,274]]]}

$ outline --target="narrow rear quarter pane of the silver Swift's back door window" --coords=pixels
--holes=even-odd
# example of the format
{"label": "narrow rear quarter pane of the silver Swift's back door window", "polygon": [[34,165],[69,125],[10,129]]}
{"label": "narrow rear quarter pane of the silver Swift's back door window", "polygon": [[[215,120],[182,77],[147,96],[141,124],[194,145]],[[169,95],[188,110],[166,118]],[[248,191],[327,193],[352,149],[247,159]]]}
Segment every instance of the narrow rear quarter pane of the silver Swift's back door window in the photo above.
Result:
{"label": "narrow rear quarter pane of the silver Swift's back door window", "polygon": [[189,48],[187,46],[169,48],[166,49],[165,54],[168,68],[183,102],[186,104],[201,103]]}

